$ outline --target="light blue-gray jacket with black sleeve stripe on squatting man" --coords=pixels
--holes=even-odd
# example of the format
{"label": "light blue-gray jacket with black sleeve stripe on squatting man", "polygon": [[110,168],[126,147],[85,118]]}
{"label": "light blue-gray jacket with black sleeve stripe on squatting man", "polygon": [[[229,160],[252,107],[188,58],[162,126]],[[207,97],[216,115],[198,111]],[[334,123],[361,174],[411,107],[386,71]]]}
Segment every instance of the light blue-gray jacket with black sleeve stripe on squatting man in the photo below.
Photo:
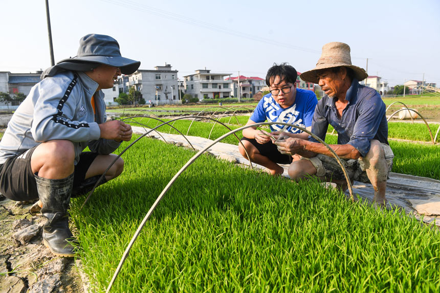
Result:
{"label": "light blue-gray jacket with black sleeve stripe on squatting man", "polygon": [[[100,138],[98,124],[106,121],[106,115],[104,94],[97,88],[98,83],[86,74],[71,71],[34,85],[8,123],[0,142],[0,164],[50,140],[73,142],[75,165],[87,146],[100,154],[116,150],[120,143]],[[91,104],[94,94],[96,114]]]}

